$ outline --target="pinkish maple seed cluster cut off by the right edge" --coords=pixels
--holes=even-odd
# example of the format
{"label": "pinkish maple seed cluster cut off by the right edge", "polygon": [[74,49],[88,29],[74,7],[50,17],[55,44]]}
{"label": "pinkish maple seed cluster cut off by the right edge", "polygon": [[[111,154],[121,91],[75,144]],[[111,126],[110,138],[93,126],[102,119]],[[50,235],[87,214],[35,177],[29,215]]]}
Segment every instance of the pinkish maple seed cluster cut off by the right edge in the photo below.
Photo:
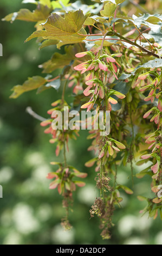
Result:
{"label": "pinkish maple seed cluster cut off by the right edge", "polygon": [[[161,78],[160,78],[160,69],[157,69],[157,72],[153,71],[154,69],[145,72],[144,74],[141,74],[138,76],[138,81],[140,80],[140,86],[139,89],[140,92],[144,92],[147,89],[150,89],[150,92],[148,95],[144,98],[144,101],[151,101],[151,103],[154,102],[156,99],[156,102],[154,103],[154,106],[149,109],[143,116],[143,118],[147,118],[152,112],[154,112],[153,117],[150,119],[150,121],[154,121],[154,123],[157,125],[157,131],[152,132],[145,136],[146,143],[150,144],[148,147],[148,150],[151,149],[150,154],[142,155],[141,159],[144,160],[151,160],[153,162],[153,165],[151,166],[151,170],[154,173],[152,175],[152,179],[154,180],[152,182],[152,191],[154,193],[157,193],[160,188],[157,184],[157,182],[161,182],[161,176],[162,176],[162,139],[161,139],[161,125],[162,125],[162,97],[161,97]],[[154,80],[152,80],[151,75],[153,75]],[[137,83],[138,83],[137,81]],[[145,85],[145,83],[147,85]],[[158,100],[158,102],[157,102]],[[154,198],[153,203],[160,203],[162,201],[162,198]],[[155,216],[157,217],[157,211],[155,213]]]}

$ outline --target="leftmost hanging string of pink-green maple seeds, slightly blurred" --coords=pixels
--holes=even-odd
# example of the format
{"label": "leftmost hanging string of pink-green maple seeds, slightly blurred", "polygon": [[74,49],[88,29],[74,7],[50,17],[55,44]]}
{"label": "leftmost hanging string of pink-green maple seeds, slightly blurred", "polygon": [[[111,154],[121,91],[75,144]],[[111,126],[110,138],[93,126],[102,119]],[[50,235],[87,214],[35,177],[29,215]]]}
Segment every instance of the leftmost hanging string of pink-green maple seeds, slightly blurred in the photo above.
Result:
{"label": "leftmost hanging string of pink-green maple seeds, slightly blurred", "polygon": [[[56,156],[59,155],[60,150],[64,147],[64,143],[66,143],[67,150],[68,150],[68,141],[69,138],[75,138],[75,135],[78,135],[77,130],[67,130],[64,129],[64,124],[62,125],[62,130],[56,129],[54,130],[52,127],[52,122],[55,119],[55,111],[64,111],[64,106],[68,106],[66,101],[57,100],[51,104],[54,108],[49,109],[47,112],[51,115],[51,119],[47,119],[45,121],[42,121],[41,126],[48,126],[49,127],[44,130],[44,133],[50,133],[52,135],[52,138],[50,139],[50,143],[57,142],[56,147]],[[69,111],[69,109],[68,109]],[[73,180],[73,178],[86,178],[87,173],[81,173],[79,170],[72,166],[67,166],[66,163],[64,163],[64,166],[62,163],[59,162],[51,162],[52,165],[59,165],[59,169],[56,170],[56,172],[48,173],[47,179],[54,179],[49,185],[50,189],[57,188],[59,194],[62,194],[62,196],[66,197],[68,194],[68,199],[72,197],[72,192],[76,190],[76,186],[82,187],[85,186],[85,182]],[[63,223],[66,223],[64,221]]]}

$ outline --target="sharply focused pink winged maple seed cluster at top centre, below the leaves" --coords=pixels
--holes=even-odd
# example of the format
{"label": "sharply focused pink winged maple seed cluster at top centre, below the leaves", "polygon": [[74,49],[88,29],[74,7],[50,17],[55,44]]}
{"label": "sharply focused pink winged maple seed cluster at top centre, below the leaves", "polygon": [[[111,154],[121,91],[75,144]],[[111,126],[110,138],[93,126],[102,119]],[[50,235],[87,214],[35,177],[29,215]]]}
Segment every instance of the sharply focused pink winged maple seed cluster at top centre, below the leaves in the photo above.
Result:
{"label": "sharply focused pink winged maple seed cluster at top centre, below the leaves", "polygon": [[74,67],[75,70],[81,71],[81,74],[89,71],[86,76],[87,88],[83,90],[83,94],[85,96],[89,96],[90,94],[92,94],[92,97],[87,103],[82,105],[81,108],[87,108],[87,111],[90,111],[90,109],[92,109],[96,100],[98,99],[98,96],[100,96],[101,99],[107,96],[107,110],[111,110],[111,105],[109,102],[111,102],[112,104],[118,103],[118,101],[111,97],[112,94],[119,97],[120,99],[124,99],[125,97],[124,94],[113,90],[111,90],[111,92],[107,94],[108,90],[105,86],[107,83],[112,83],[115,78],[116,80],[118,80],[118,77],[116,76],[118,68],[116,65],[118,65],[119,67],[121,66],[118,62],[116,62],[116,59],[114,57],[121,57],[122,54],[116,53],[108,55],[105,53],[101,54],[100,56],[96,54],[95,56],[95,53],[92,51],[80,52],[75,54],[77,58],[82,58],[86,55],[90,56],[91,60],[87,60],[86,62],[83,62]]}

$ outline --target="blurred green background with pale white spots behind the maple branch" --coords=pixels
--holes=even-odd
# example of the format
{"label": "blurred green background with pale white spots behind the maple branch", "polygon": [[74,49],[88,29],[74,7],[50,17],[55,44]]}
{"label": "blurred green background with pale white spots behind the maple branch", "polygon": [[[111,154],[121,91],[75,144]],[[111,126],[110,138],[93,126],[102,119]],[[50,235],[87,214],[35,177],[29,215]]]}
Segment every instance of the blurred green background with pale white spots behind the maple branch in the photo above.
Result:
{"label": "blurred green background with pale white spots behind the maple branch", "polygon": [[[33,5],[21,2],[1,0],[1,19],[21,8],[32,10]],[[160,13],[161,1],[136,2],[148,11]],[[130,14],[141,13],[133,4],[127,8]],[[77,188],[74,196],[74,212],[69,216],[74,228],[70,231],[62,229],[62,198],[56,190],[49,190],[50,181],[46,179],[47,173],[55,170],[49,162],[61,161],[62,156],[55,156],[55,145],[49,143],[50,137],[43,133],[40,122],[25,112],[31,106],[36,113],[48,118],[50,103],[59,99],[60,92],[50,89],[36,95],[33,91],[16,100],[9,99],[13,86],[22,84],[28,76],[41,75],[38,65],[59,50],[51,46],[39,51],[35,40],[24,44],[24,40],[34,32],[32,22],[15,21],[11,24],[0,21],[0,29],[3,45],[3,57],[0,57],[0,184],[3,186],[0,244],[162,244],[160,217],[152,220],[147,215],[141,217],[139,214],[145,202],[139,202],[137,196],[153,196],[149,177],[145,180],[134,178],[134,194],[121,193],[124,200],[122,208],[114,212],[112,238],[101,239],[99,219],[90,219],[89,215],[98,191],[95,188],[94,168],[85,167],[85,162],[93,157],[87,152],[90,145],[90,141],[86,140],[87,131],[81,131],[77,141],[70,141],[68,162],[81,172],[87,172],[88,177],[87,185]],[[70,100],[68,96],[66,98]],[[143,167],[134,164],[134,173],[140,168]],[[131,188],[130,175],[129,165],[119,168],[120,183]]]}

